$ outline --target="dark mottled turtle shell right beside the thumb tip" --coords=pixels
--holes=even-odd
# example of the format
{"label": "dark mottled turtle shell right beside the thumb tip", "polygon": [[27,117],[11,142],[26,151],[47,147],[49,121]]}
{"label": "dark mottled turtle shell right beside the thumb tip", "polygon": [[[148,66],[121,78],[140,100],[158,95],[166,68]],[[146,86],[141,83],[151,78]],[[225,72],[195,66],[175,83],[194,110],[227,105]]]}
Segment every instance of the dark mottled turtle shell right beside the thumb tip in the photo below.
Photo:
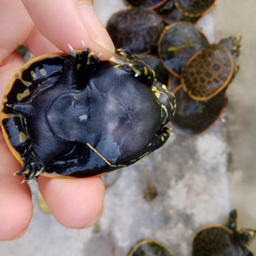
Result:
{"label": "dark mottled turtle shell right beside the thumb tip", "polygon": [[150,9],[121,9],[107,23],[116,49],[127,49],[134,55],[147,55],[154,51],[163,29],[163,21]]}

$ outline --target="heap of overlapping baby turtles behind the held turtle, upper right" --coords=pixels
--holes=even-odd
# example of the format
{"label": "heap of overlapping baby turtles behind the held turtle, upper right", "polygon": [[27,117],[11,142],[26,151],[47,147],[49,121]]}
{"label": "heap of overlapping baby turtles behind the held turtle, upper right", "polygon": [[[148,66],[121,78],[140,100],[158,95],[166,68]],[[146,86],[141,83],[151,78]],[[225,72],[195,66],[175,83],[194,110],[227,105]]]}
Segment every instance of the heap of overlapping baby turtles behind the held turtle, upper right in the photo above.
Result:
{"label": "heap of overlapping baby turtles behind the held turtle, upper right", "polygon": [[[238,71],[241,38],[210,44],[195,26],[215,1],[126,2],[131,6],[114,13],[107,24],[116,48],[140,55],[175,94],[177,110],[172,125],[177,131],[205,131],[226,106],[225,90]],[[172,19],[167,20],[163,13]]]}

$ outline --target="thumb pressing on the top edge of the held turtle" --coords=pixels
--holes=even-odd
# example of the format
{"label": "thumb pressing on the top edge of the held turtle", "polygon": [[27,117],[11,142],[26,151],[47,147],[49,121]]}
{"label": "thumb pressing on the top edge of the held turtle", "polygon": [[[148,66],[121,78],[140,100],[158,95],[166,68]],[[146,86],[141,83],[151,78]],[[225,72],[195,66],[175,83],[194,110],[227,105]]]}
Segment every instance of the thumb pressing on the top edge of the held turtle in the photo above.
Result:
{"label": "thumb pressing on the top edge of the held turtle", "polygon": [[111,38],[93,9],[92,0],[22,0],[38,30],[52,44],[70,53],[84,44],[101,59],[109,59],[114,52]]}

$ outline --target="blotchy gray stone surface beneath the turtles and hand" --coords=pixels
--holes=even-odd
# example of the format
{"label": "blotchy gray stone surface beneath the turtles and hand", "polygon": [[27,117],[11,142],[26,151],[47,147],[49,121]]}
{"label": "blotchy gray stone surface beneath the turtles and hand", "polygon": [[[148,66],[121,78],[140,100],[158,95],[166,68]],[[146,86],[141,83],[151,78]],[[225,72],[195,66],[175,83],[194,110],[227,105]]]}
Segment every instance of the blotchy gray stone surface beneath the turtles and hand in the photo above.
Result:
{"label": "blotchy gray stone surface beneath the turtles and hand", "polygon": [[[109,12],[123,6],[117,0],[97,0],[95,4],[102,22],[108,20]],[[33,183],[32,224],[19,240],[1,242],[0,254],[125,256],[136,241],[151,237],[186,256],[195,230],[204,224],[224,223],[233,207],[241,227],[256,228],[256,34],[255,22],[250,21],[255,20],[255,9],[253,0],[217,0],[199,25],[211,41],[230,34],[243,36],[241,70],[228,90],[228,108],[216,125],[195,137],[173,131],[163,148],[118,171],[117,182],[107,189],[102,218],[87,230],[68,230],[50,214],[40,212]],[[116,173],[106,178],[112,179]],[[158,192],[151,202],[143,197],[145,173]],[[256,253],[255,242],[251,249]]]}

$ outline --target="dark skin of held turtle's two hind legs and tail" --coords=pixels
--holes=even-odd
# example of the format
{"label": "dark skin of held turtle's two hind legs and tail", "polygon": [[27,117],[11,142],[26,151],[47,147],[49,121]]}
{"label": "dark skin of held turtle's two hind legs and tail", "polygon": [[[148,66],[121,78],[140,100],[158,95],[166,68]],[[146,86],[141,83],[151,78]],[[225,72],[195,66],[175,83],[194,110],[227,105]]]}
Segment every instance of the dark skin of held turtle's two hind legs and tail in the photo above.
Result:
{"label": "dark skin of held turtle's two hind legs and tail", "polygon": [[[9,107],[13,108],[15,113],[20,114],[25,119],[27,132],[32,137],[32,145],[21,155],[23,166],[16,175],[25,175],[23,182],[32,182],[45,170],[45,166],[55,159],[58,155],[67,150],[71,150],[73,145],[65,140],[55,137],[47,124],[45,109],[40,108],[41,102],[53,101],[60,91],[75,90],[79,87],[77,84],[78,69],[82,70],[88,65],[98,61],[98,56],[91,54],[90,50],[84,49],[75,51],[71,48],[72,56],[68,59],[61,73],[60,79],[51,90],[45,89],[39,96],[32,97],[30,102],[19,102]],[[81,72],[82,73],[82,72]],[[50,83],[50,80],[46,81]],[[53,85],[53,84],[52,84]],[[50,86],[49,86],[50,87]],[[42,125],[44,124],[44,125]],[[47,148],[45,150],[44,148]],[[49,150],[50,148],[50,150]]]}

